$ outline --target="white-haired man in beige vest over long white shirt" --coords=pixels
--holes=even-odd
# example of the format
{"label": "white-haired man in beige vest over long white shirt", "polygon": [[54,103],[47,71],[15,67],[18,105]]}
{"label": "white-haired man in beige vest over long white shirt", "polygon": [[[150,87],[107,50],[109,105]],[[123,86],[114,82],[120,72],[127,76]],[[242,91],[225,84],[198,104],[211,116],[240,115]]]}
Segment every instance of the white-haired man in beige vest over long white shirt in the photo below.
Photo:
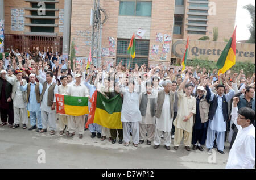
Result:
{"label": "white-haired man in beige vest over long white shirt", "polygon": [[164,132],[164,147],[170,150],[172,120],[174,117],[174,93],[171,91],[172,82],[166,80],[163,82],[164,90],[158,92],[156,98],[156,123],[154,149],[159,148],[161,135]]}

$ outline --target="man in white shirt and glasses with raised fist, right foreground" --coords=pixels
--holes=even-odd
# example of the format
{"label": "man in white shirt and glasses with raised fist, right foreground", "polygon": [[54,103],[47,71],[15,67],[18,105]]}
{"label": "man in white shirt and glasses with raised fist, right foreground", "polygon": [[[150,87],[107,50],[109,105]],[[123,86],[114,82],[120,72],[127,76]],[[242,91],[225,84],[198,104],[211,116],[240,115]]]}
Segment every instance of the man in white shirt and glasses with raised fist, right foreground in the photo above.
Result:
{"label": "man in white shirt and glasses with raised fist, right foreground", "polygon": [[226,168],[246,168],[255,166],[255,111],[249,107],[242,107],[238,110],[238,97],[233,98],[232,122],[238,129],[236,140],[229,152]]}

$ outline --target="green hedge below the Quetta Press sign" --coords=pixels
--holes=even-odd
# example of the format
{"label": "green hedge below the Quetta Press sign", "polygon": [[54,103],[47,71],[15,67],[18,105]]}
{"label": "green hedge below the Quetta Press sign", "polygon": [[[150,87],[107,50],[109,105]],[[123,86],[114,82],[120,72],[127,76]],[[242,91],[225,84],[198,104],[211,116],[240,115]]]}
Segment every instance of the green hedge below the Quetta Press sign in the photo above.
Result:
{"label": "green hedge below the Quetta Press sign", "polygon": [[[192,66],[195,68],[196,66],[199,66],[199,68],[207,69],[207,72],[209,69],[211,72],[213,69],[217,69],[216,72],[218,72],[215,61],[200,60],[196,58],[194,60],[187,60],[187,66]],[[250,77],[255,72],[255,64],[251,62],[236,62],[236,64],[230,70],[231,73],[237,72],[239,74],[241,69],[243,69],[243,73],[246,74],[246,77]]]}

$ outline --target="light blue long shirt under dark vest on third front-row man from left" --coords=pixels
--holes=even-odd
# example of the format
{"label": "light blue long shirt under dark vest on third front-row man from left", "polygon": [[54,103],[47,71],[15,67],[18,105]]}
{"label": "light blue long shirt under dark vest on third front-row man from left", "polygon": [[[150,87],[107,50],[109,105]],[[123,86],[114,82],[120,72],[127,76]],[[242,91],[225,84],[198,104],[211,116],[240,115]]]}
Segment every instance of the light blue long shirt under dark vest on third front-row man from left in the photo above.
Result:
{"label": "light blue long shirt under dark vest on third front-row man from left", "polygon": [[[30,82],[30,98],[28,99],[28,104],[27,104],[27,110],[30,112],[40,112],[41,111],[40,103],[38,103],[36,101],[36,94],[35,94],[36,83],[39,83],[39,82],[35,82],[35,83]],[[20,90],[26,91],[27,85],[28,85],[28,83],[25,86],[20,86]],[[43,90],[43,86],[39,83],[40,94],[42,93],[42,90]]]}

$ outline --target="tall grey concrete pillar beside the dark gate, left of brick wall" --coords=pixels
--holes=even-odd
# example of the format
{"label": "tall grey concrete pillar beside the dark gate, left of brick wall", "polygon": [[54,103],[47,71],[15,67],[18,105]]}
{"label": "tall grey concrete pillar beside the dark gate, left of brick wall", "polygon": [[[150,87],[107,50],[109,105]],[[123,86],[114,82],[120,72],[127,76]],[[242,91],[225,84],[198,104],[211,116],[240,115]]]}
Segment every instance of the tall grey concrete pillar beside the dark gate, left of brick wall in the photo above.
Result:
{"label": "tall grey concrete pillar beside the dark gate, left of brick wall", "polygon": [[72,9],[72,0],[65,0],[63,48],[62,48],[63,54],[69,54],[69,49],[70,49],[71,9]]}

